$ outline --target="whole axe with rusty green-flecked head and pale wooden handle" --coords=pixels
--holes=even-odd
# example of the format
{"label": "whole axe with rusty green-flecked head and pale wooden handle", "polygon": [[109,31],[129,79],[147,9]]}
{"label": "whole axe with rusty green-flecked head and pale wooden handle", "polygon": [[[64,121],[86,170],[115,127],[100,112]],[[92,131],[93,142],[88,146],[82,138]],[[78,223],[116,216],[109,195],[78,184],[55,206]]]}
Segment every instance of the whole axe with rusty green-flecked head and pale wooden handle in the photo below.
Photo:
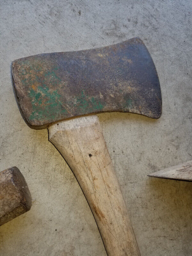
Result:
{"label": "whole axe with rusty green-flecked head and pale wooden handle", "polygon": [[132,38],[97,49],[38,54],[13,61],[11,70],[22,117],[33,129],[48,128],[49,141],[83,190],[108,256],[139,256],[96,113],[161,116],[159,79],[146,46]]}

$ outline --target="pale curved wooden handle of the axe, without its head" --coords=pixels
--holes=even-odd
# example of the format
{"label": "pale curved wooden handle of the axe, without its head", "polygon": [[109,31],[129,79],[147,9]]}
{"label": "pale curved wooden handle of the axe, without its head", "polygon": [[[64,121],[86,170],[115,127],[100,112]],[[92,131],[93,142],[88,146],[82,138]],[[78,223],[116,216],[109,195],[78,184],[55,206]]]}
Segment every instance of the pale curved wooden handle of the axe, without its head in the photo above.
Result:
{"label": "pale curved wooden handle of the axe, without its head", "polygon": [[67,161],[84,192],[108,256],[139,256],[98,117],[62,121],[48,130],[49,141]]}

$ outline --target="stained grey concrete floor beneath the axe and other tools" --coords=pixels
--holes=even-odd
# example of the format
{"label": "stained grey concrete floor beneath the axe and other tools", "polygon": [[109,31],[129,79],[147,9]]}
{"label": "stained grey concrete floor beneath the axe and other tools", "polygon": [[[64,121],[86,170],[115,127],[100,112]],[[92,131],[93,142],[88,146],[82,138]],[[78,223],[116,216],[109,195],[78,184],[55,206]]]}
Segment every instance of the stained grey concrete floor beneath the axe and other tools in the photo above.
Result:
{"label": "stained grey concrete floor beneath the axe and other tools", "polygon": [[16,165],[33,198],[29,212],[0,227],[1,256],[106,256],[84,195],[47,130],[30,129],[20,115],[11,61],[134,36],[155,62],[162,117],[98,116],[141,255],[192,255],[192,183],[147,176],[192,159],[191,13],[190,0],[1,0],[1,170]]}

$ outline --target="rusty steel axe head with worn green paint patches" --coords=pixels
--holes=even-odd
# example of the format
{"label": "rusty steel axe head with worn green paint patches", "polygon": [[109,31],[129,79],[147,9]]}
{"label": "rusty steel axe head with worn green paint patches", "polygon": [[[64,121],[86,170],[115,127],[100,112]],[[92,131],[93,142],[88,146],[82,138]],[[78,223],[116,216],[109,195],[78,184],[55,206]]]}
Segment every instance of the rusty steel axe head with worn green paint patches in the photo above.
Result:
{"label": "rusty steel axe head with worn green paint patches", "polygon": [[101,112],[161,116],[156,68],[139,38],[91,50],[29,56],[13,61],[11,70],[21,115],[34,129]]}

